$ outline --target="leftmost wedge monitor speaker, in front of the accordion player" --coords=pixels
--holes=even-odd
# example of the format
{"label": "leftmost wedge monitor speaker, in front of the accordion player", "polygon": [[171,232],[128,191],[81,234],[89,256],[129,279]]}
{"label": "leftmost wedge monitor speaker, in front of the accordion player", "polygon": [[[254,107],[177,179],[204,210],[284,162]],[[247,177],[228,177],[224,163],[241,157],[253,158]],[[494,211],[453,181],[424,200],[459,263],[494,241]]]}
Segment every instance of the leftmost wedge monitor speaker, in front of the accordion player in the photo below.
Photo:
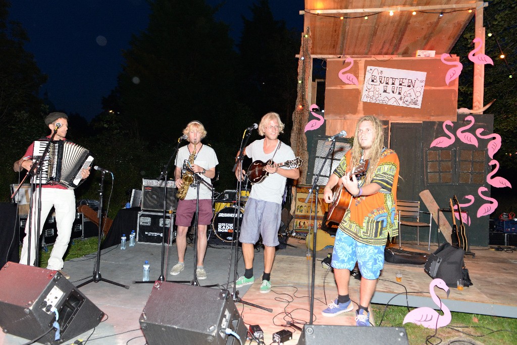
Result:
{"label": "leftmost wedge monitor speaker, in front of the accordion player", "polygon": [[[53,323],[57,309],[60,339]],[[60,344],[96,327],[104,313],[59,272],[8,262],[0,269],[0,326],[4,333]],[[52,329],[50,332],[48,332]]]}

